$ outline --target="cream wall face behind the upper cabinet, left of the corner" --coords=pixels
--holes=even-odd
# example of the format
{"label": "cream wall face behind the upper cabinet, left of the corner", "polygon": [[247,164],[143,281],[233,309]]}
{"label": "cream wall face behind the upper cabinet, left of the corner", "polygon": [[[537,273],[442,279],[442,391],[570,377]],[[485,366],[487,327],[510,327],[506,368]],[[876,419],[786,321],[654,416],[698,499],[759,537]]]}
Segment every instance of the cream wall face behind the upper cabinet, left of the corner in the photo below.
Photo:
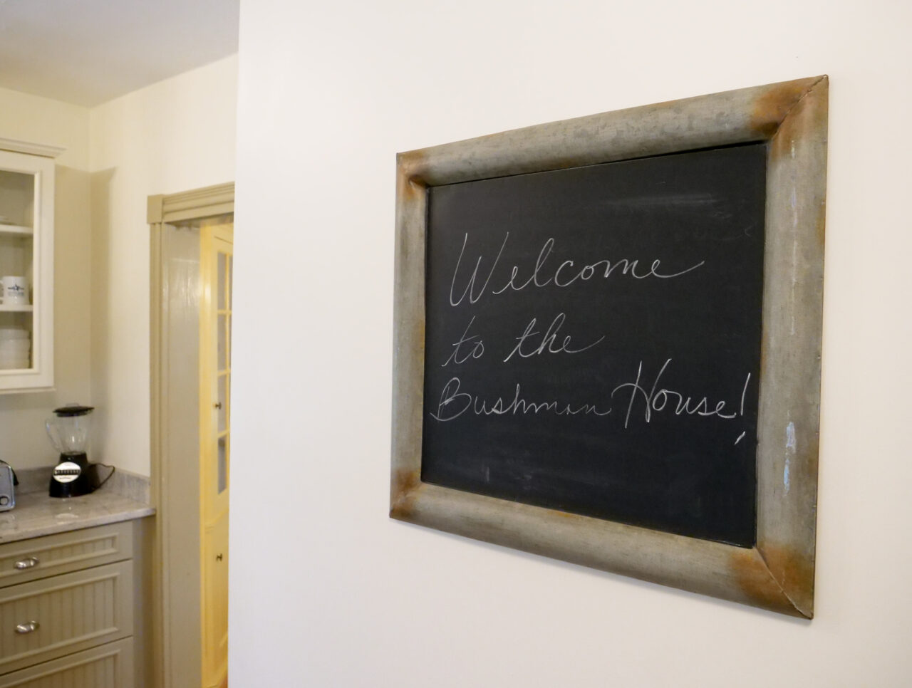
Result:
{"label": "cream wall face behind the upper cabinet, left of the corner", "polygon": [[67,402],[91,402],[88,108],[0,88],[0,137],[66,148],[56,160],[55,390],[0,395],[0,459],[47,466],[57,455],[45,419]]}

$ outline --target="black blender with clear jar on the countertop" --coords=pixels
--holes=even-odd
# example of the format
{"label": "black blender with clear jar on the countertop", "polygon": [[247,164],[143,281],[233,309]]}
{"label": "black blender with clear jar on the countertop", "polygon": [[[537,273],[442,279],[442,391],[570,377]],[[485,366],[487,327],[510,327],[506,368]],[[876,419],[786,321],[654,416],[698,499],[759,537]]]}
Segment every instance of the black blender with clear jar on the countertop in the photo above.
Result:
{"label": "black blender with clear jar on the countertop", "polygon": [[86,455],[93,408],[80,404],[61,406],[45,423],[51,444],[60,452],[60,461],[51,475],[51,497],[79,497],[99,487],[95,465],[88,463]]}

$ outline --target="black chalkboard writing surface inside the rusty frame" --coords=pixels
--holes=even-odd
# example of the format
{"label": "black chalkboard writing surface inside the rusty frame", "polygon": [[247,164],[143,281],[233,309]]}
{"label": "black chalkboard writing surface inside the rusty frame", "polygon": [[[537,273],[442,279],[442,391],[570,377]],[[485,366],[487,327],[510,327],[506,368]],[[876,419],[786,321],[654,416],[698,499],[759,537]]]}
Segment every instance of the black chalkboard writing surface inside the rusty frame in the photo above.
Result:
{"label": "black chalkboard writing surface inside the rusty frame", "polygon": [[766,159],[430,187],[421,479],[752,547]]}

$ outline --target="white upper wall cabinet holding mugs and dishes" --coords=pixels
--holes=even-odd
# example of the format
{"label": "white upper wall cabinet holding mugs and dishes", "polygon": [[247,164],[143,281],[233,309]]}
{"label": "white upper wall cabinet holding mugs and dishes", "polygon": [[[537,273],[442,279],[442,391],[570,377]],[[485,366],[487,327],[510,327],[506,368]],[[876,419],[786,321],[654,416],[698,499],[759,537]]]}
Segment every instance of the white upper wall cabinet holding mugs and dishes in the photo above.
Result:
{"label": "white upper wall cabinet holding mugs and dishes", "polygon": [[54,156],[0,139],[0,394],[54,386]]}

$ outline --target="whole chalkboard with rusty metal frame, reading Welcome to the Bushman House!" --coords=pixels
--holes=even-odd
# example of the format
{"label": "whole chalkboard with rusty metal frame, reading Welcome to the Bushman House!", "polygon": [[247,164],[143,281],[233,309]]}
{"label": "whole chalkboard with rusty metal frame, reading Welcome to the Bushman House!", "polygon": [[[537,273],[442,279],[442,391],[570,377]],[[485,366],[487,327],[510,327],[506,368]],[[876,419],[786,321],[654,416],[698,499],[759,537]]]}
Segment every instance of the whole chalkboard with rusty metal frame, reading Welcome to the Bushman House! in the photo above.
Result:
{"label": "whole chalkboard with rusty metal frame, reading Welcome to the Bushman House!", "polygon": [[810,618],[827,79],[401,153],[390,515]]}

